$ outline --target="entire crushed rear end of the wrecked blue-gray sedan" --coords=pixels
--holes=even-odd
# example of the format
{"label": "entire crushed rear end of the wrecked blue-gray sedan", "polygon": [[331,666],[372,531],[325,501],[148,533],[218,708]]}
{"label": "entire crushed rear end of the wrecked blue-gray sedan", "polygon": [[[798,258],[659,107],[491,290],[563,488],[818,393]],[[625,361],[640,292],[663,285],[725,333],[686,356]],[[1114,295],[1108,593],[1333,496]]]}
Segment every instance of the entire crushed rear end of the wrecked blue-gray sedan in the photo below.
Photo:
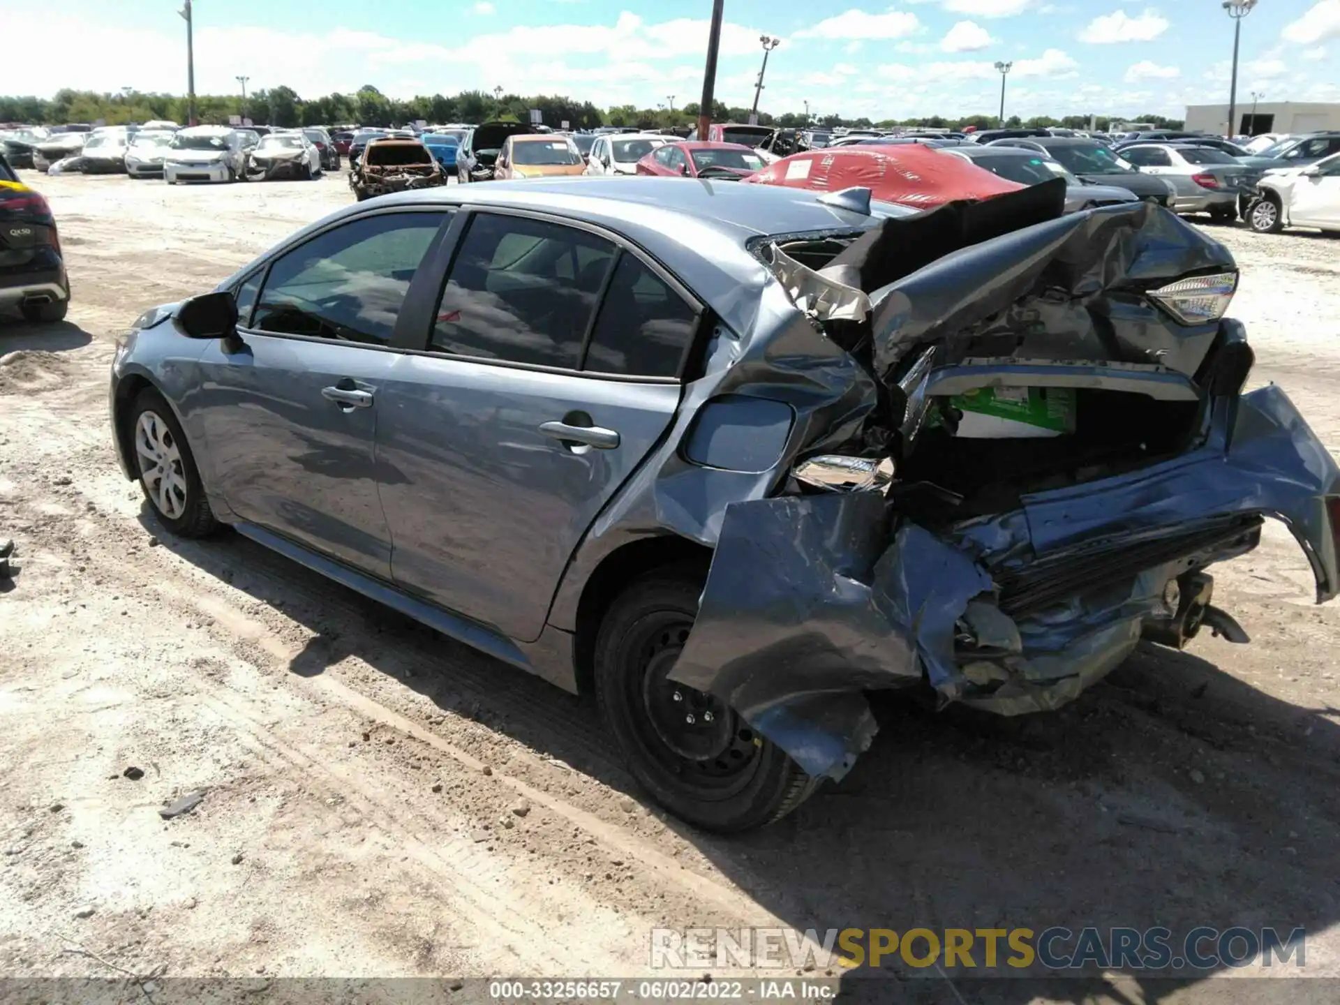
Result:
{"label": "entire crushed rear end of the wrecked blue-gray sedan", "polygon": [[1063,202],[1048,182],[754,249],[821,342],[779,323],[787,351],[717,387],[791,389],[788,470],[724,507],[671,677],[813,776],[870,745],[871,690],[1051,710],[1142,638],[1246,642],[1206,568],[1264,517],[1319,603],[1340,590],[1340,468],[1284,391],[1242,393],[1227,249],[1159,206]]}

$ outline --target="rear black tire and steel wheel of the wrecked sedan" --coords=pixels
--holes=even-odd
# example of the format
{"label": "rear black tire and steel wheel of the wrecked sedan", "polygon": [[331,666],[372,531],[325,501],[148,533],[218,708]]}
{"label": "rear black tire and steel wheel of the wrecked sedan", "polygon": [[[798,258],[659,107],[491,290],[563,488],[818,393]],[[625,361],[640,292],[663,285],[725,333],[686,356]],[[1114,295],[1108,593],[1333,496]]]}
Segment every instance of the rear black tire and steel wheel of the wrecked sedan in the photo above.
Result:
{"label": "rear black tire and steel wheel of the wrecked sedan", "polygon": [[[698,570],[673,567],[635,580],[615,599],[596,636],[596,702],[651,799],[706,831],[749,831],[799,807],[817,780],[718,699],[665,678],[701,592]],[[681,710],[694,714],[693,728],[678,724]]]}

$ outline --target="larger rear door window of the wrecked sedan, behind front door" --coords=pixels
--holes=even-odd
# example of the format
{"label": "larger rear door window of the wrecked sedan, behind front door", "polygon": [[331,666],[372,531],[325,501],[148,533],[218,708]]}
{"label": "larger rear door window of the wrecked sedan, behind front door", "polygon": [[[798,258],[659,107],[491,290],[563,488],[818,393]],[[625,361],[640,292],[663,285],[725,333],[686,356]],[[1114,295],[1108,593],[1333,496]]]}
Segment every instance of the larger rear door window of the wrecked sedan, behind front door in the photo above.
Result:
{"label": "larger rear door window of the wrecked sedan, behind front door", "polygon": [[575,370],[614,253],[576,228],[476,216],[442,289],[431,348]]}

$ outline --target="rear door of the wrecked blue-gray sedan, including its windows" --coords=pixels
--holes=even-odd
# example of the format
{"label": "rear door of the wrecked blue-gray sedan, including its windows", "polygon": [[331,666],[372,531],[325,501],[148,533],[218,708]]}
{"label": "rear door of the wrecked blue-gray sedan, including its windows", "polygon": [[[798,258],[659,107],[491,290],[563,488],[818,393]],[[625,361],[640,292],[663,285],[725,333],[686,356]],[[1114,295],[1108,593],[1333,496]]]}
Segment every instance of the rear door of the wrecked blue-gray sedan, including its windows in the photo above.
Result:
{"label": "rear door of the wrecked blue-gray sedan, including its windows", "polygon": [[587,528],[670,425],[701,311],[594,228],[497,210],[457,226],[422,351],[379,397],[393,575],[532,641]]}

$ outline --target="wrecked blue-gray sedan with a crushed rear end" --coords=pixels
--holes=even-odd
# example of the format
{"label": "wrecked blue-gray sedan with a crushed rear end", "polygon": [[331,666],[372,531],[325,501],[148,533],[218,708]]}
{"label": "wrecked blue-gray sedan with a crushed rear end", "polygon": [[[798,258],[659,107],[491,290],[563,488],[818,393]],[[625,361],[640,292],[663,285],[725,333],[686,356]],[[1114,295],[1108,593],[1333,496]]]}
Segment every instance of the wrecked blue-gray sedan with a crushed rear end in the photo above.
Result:
{"label": "wrecked blue-gray sedan with a crushed rear end", "polygon": [[1142,638],[1245,642],[1206,570],[1266,516],[1340,590],[1340,469],[1242,393],[1229,252],[1064,198],[356,204],[137,322],[118,453],[173,532],[594,690],[658,803],[757,827],[851,769],[871,691],[1051,710]]}

